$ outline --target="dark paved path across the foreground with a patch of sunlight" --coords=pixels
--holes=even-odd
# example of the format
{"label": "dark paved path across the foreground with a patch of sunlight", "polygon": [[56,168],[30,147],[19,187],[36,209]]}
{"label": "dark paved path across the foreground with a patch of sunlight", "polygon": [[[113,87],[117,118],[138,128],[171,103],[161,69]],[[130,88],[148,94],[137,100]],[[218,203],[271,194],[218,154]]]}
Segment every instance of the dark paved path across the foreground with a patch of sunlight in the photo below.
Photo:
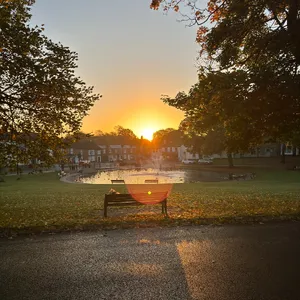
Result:
{"label": "dark paved path across the foreground with a patch of sunlight", "polygon": [[300,223],[0,241],[0,299],[300,299]]}

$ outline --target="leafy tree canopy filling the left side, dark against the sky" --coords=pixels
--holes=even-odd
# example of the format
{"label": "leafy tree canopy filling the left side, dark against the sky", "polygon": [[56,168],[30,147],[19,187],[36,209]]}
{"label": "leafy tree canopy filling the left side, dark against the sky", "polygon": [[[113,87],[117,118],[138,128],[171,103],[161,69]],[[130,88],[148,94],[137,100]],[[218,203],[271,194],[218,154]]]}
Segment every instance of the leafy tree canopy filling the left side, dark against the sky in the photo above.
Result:
{"label": "leafy tree canopy filling the left side, dark against the sky", "polygon": [[33,3],[0,2],[2,164],[53,158],[99,98],[75,75],[78,54],[29,25]]}

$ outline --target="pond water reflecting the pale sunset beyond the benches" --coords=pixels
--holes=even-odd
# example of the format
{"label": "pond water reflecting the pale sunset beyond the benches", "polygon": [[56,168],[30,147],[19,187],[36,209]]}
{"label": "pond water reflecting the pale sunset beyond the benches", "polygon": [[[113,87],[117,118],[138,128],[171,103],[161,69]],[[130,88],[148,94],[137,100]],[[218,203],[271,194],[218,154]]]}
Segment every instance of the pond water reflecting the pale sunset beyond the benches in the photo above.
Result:
{"label": "pond water reflecting the pale sunset beyond the benches", "polygon": [[111,180],[124,180],[126,184],[144,184],[145,180],[158,183],[186,183],[224,181],[228,174],[206,170],[113,170],[99,171],[96,175],[80,179],[82,183],[111,184]]}

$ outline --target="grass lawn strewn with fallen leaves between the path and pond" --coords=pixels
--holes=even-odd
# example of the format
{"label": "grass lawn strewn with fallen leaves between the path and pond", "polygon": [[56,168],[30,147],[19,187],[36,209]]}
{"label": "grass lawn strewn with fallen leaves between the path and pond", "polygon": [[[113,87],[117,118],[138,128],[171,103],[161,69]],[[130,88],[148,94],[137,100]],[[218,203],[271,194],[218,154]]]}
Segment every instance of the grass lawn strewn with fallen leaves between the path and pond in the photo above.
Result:
{"label": "grass lawn strewn with fallen leaves between the path and pond", "polygon": [[[109,208],[112,217],[103,219],[103,198],[111,185],[63,183],[55,173],[23,175],[21,180],[7,176],[0,183],[0,232],[300,219],[300,172],[256,173],[251,181],[175,184],[168,219],[159,208],[147,213],[144,206],[121,216],[111,211],[126,208]],[[113,187],[126,191],[122,185]]]}

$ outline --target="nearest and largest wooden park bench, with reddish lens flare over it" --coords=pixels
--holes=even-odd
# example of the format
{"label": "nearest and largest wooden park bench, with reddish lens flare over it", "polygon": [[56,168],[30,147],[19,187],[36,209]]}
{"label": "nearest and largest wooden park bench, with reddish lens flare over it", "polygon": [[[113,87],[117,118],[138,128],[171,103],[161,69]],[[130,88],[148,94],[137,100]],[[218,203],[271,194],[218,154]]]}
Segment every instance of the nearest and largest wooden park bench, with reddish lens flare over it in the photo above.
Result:
{"label": "nearest and largest wooden park bench, with reddish lens flare over it", "polygon": [[[138,193],[138,194],[105,194],[104,197],[104,217],[107,217],[108,206],[139,206],[161,204],[162,214],[166,217],[168,192]],[[136,200],[138,199],[138,200]]]}

